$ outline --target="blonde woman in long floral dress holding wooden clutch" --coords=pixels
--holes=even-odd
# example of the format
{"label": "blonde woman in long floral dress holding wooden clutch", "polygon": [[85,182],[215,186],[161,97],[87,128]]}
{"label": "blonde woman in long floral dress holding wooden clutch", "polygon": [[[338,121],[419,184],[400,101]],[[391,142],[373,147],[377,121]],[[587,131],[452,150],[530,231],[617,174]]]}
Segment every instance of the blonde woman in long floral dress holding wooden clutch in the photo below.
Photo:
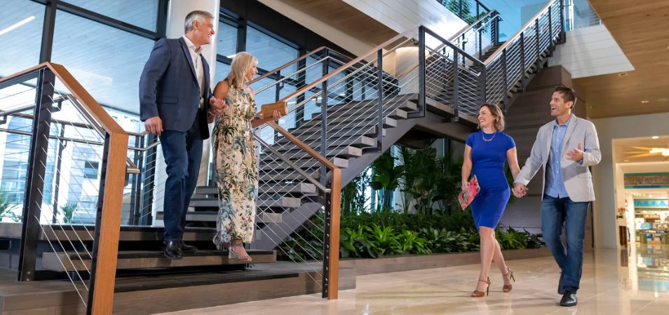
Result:
{"label": "blonde woman in long floral dress holding wooden clutch", "polygon": [[214,167],[218,188],[217,233],[213,241],[226,246],[229,258],[250,262],[243,244],[250,243],[255,230],[258,196],[258,172],[253,128],[273,117],[256,115],[255,94],[247,83],[258,73],[258,60],[248,52],[238,52],[232,59],[230,73],[216,85],[214,95],[225,99],[229,109],[217,116],[213,131]]}

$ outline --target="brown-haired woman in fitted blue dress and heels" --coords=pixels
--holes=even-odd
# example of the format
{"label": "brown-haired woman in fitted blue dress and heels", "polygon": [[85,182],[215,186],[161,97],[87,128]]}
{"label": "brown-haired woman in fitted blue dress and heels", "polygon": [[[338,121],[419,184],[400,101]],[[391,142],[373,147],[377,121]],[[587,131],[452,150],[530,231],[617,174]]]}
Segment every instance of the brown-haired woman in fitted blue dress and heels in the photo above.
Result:
{"label": "brown-haired woman in fitted blue dress and heels", "polygon": [[[513,272],[506,266],[501,248],[495,238],[495,228],[511,190],[504,174],[504,164],[508,162],[513,178],[518,176],[518,155],[515,142],[504,130],[504,114],[499,106],[483,104],[478,110],[479,131],[467,138],[462,165],[462,189],[469,186],[470,176],[476,175],[480,192],[471,202],[471,214],[480,235],[481,273],[472,297],[483,297],[489,292],[488,272],[494,259],[504,277],[504,292],[511,291]],[[513,279],[515,281],[515,279]]]}

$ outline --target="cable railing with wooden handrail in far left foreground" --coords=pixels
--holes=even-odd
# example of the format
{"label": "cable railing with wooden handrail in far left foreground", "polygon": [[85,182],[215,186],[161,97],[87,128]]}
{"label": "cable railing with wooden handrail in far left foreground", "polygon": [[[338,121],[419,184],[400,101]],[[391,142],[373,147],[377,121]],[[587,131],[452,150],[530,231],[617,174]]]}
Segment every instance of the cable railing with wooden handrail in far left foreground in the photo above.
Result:
{"label": "cable railing with wooden handrail in far left foreground", "polygon": [[[0,99],[4,161],[16,167],[2,174],[0,191],[22,224],[19,280],[64,271],[89,314],[109,314],[128,135],[58,64],[2,78],[0,90],[8,95]],[[88,216],[94,225],[83,223]],[[41,240],[52,252],[39,266]]]}

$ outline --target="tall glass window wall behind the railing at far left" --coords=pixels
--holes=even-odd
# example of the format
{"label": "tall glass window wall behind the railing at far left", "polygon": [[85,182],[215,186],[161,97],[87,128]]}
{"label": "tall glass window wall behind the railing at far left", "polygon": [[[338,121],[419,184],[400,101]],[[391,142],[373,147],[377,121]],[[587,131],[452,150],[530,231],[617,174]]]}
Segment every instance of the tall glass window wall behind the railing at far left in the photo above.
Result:
{"label": "tall glass window wall behind the railing at far left", "polygon": [[[0,0],[0,77],[40,62],[62,64],[123,129],[141,132],[138,81],[154,42],[165,36],[164,30],[159,34],[158,29],[165,29],[160,26],[165,25],[167,18],[159,12],[166,12],[167,3],[166,0]],[[48,16],[55,19],[45,20]],[[50,24],[45,25],[45,21]],[[34,92],[34,84],[34,80],[26,83],[27,91]],[[0,110],[34,104],[34,93],[23,93],[20,86],[23,85],[0,92]],[[56,94],[66,91],[58,83],[55,90]],[[0,202],[18,209],[1,219],[20,221],[30,145],[30,136],[22,132],[32,131],[32,120],[0,117],[0,128],[13,131],[0,134],[0,152],[4,153],[0,157],[3,195]],[[68,128],[53,123],[52,137],[59,133],[68,137],[74,132]],[[102,147],[97,150],[74,142],[50,140],[44,209],[76,204],[72,217],[63,220],[61,214],[59,222],[92,223],[95,218],[97,190],[92,187],[100,181],[101,150]],[[62,164],[60,169],[57,164]],[[127,207],[123,210],[130,211]],[[124,213],[123,217],[132,216]],[[50,221],[48,216],[45,218]]]}

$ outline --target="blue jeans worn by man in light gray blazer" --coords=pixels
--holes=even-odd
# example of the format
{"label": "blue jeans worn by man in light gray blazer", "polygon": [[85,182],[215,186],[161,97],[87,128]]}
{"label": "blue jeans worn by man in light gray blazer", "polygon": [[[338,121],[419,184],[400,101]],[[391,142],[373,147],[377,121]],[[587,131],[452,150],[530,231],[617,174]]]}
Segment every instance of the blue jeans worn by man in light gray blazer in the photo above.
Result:
{"label": "blue jeans worn by man in light gray blazer", "polygon": [[[573,202],[569,197],[555,198],[543,195],[541,201],[541,231],[543,241],[562,269],[558,292],[576,293],[583,271],[583,239],[590,202]],[[562,226],[567,235],[567,248],[562,244]]]}

